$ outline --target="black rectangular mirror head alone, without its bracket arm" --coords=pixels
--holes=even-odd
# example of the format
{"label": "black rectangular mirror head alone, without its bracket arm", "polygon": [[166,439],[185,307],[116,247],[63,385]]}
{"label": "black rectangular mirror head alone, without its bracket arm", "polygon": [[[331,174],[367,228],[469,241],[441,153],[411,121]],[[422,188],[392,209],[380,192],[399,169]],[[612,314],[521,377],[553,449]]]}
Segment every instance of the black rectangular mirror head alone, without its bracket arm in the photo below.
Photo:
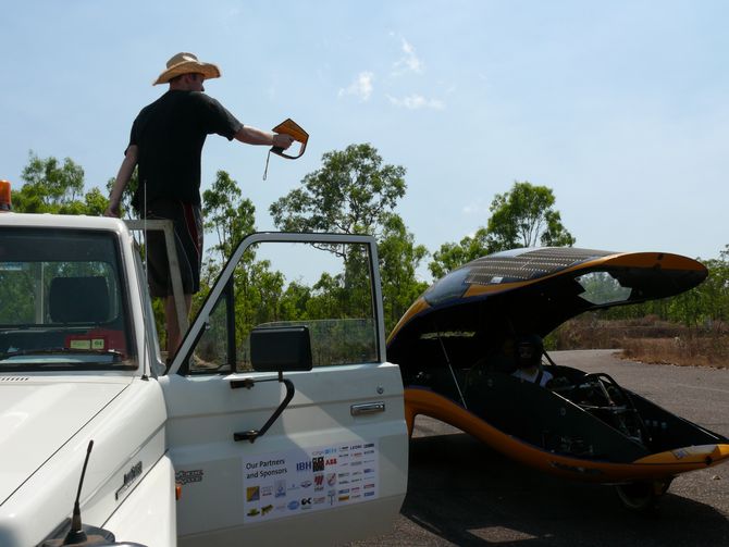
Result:
{"label": "black rectangular mirror head alone, without its bracket arm", "polygon": [[311,370],[311,341],[306,326],[261,326],[250,332],[250,361],[257,372]]}

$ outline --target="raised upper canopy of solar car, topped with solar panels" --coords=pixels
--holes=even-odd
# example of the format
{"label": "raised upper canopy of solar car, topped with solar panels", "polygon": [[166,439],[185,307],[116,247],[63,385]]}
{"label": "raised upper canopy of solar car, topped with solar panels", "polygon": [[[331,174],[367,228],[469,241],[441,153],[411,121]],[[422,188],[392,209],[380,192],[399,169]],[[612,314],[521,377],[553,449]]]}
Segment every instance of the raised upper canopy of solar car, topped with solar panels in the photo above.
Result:
{"label": "raised upper canopy of solar car, topped with solar panels", "polygon": [[699,261],[665,252],[524,248],[473,260],[434,283],[393,330],[388,359],[422,336],[545,336],[584,311],[689,290],[707,276]]}

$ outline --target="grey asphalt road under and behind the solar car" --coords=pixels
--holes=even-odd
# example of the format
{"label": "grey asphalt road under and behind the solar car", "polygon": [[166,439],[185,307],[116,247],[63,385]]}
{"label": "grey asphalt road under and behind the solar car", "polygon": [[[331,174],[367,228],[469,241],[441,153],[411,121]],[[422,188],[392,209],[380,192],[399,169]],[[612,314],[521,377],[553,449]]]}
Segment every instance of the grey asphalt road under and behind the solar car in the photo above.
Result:
{"label": "grey asphalt road under and behind the solar car", "polygon": [[[606,372],[662,407],[729,436],[729,370],[648,365],[611,351],[555,352]],[[607,486],[512,462],[458,430],[419,417],[408,495],[394,531],[351,546],[729,546],[729,463],[679,476],[658,508],[635,514]]]}

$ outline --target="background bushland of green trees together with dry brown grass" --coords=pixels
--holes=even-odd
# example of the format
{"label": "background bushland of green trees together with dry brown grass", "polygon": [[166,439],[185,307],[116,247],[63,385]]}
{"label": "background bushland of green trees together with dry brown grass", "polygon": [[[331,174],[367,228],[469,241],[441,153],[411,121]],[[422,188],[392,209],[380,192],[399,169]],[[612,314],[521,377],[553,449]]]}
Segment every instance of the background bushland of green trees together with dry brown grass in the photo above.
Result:
{"label": "background bushland of green trees together with dry brown grass", "polygon": [[[350,145],[324,153],[321,167],[268,211],[283,231],[373,235],[387,331],[433,281],[470,260],[518,247],[578,245],[577,235],[561,222],[552,189],[515,181],[494,196],[490,216],[475,233],[427,249],[397,214],[398,201],[407,191],[405,176],[404,166],[383,163],[370,144]],[[22,186],[12,191],[13,210],[28,213],[102,214],[113,184],[110,178],[106,189],[88,189],[83,167],[72,159],[39,158],[33,151],[22,178]],[[131,198],[137,185],[135,174],[124,195],[128,217],[134,216]],[[226,172],[218,171],[215,181],[203,186],[209,187],[202,192],[207,245],[202,289],[194,299],[194,312],[236,244],[256,231],[256,207]],[[643,362],[729,368],[729,245],[717,258],[692,258],[709,272],[700,286],[670,299],[582,314],[552,333],[546,347],[620,348],[625,357]],[[353,299],[353,279],[346,272],[305,285],[286,279],[255,254],[246,260],[250,276],[236,281],[243,289],[236,294],[251,326],[282,319],[319,319],[336,311],[332,307],[337,302],[343,307],[338,315],[347,316],[344,306]],[[164,344],[162,303],[156,302],[155,310]]]}

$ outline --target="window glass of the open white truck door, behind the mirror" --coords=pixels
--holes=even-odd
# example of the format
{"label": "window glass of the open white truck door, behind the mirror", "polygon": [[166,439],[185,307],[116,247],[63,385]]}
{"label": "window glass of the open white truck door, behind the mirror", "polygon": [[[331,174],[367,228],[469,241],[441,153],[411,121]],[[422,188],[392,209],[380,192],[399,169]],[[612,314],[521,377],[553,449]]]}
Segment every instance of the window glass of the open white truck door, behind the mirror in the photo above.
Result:
{"label": "window glass of the open white truck door, behind the mirror", "polygon": [[376,362],[372,287],[367,245],[255,244],[215,303],[189,372],[251,370],[250,331],[274,325],[308,326],[314,366]]}

